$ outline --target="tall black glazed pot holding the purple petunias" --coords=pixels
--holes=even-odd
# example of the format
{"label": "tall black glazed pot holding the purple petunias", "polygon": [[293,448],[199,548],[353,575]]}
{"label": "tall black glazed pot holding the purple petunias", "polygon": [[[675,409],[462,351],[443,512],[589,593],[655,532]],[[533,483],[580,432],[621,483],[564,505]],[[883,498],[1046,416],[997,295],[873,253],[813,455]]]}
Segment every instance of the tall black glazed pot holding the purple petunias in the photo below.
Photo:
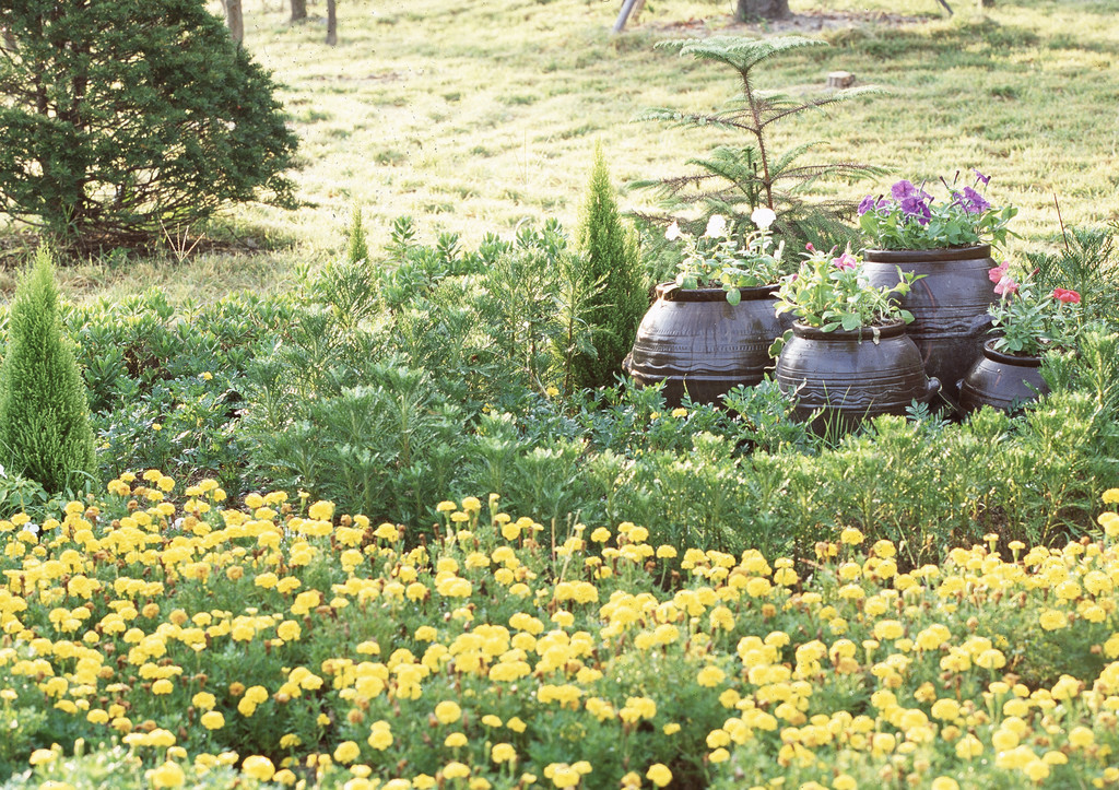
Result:
{"label": "tall black glazed pot holding the purple petunias", "polygon": [[913,313],[906,332],[916,344],[930,376],[958,397],[959,382],[982,352],[988,311],[997,300],[988,271],[995,266],[990,245],[940,250],[866,250],[863,269],[874,285],[897,284],[897,267],[923,275],[901,304]]}

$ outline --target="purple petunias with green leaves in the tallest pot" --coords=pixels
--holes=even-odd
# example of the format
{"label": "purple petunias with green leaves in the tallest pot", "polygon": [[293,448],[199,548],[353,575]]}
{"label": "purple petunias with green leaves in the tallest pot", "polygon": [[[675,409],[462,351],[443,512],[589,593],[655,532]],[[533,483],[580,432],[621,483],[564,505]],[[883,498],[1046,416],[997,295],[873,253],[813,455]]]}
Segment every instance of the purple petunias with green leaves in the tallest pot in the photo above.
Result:
{"label": "purple petunias with green leaves in the tallest pot", "polygon": [[[1014,206],[995,208],[975,187],[989,176],[975,171],[972,186],[957,189],[942,178],[949,199],[937,201],[922,187],[897,181],[890,197],[867,195],[858,205],[858,224],[867,242],[880,250],[931,250],[975,244],[1003,244],[1017,215]],[[959,173],[957,172],[957,177]]]}

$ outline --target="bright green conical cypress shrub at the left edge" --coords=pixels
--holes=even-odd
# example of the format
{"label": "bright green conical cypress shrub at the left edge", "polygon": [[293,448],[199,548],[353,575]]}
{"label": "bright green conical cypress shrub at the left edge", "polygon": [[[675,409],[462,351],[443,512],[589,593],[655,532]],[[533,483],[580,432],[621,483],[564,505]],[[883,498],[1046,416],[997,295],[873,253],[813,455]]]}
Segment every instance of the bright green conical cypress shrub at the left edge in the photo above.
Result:
{"label": "bright green conical cypress shrub at the left edge", "polygon": [[9,473],[57,492],[94,476],[97,458],[85,385],[58,317],[47,247],[20,281],[0,367],[0,461]]}

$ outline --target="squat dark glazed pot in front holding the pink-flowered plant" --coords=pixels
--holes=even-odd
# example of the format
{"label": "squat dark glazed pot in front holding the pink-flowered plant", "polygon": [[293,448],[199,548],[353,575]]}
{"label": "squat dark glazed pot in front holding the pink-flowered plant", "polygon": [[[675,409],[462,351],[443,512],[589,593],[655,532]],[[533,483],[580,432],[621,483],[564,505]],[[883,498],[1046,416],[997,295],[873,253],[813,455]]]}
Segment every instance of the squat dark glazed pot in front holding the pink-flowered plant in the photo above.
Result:
{"label": "squat dark glazed pot in front holding the pink-flowered plant", "polygon": [[880,414],[905,414],[913,401],[929,403],[940,392],[901,321],[881,327],[877,342],[869,328],[825,332],[793,323],[773,377],[796,398],[794,416],[812,418],[817,433],[847,432]]}

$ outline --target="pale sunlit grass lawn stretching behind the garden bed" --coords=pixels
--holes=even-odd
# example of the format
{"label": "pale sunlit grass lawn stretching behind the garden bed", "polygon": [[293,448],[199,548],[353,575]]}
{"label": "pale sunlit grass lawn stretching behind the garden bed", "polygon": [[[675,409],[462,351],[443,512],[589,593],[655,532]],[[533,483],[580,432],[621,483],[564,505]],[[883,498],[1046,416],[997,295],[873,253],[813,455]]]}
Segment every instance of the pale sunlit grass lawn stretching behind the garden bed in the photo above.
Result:
{"label": "pale sunlit grass lawn stretching behind the garden bed", "polygon": [[[331,48],[321,0],[297,26],[276,0],[245,3],[245,46],[283,85],[301,139],[294,177],[307,205],[243,207],[227,219],[241,236],[292,245],[175,262],[173,276],[158,262],[137,278],[97,261],[74,270],[74,295],[115,297],[152,280],[219,295],[225,273],[231,288],[285,288],[297,266],[341,248],[354,206],[378,246],[402,215],[425,237],[453,232],[468,244],[551,216],[573,228],[596,144],[624,188],[692,171],[689,158],[734,142],[634,122],[652,106],[711,111],[736,90],[725,67],[655,44],[765,34],[735,23],[730,0],[651,3],[620,36],[610,34],[620,3],[601,0],[346,0]],[[761,87],[814,95],[829,72],[848,70],[886,93],[794,119],[777,129],[777,147],[818,140],[808,159],[893,169],[876,184],[817,185],[821,196],[858,198],[897,177],[978,167],[995,177],[995,203],[1022,209],[1016,247],[1052,243],[1056,200],[1066,224],[1119,217],[1119,2],[1000,0],[982,12],[952,4],[949,19],[934,0],[918,0],[903,9],[914,21],[897,26],[874,21],[901,10],[885,0],[792,0],[810,22],[856,13],[845,27],[808,30],[831,46],[771,62]],[[648,191],[620,198],[623,208],[652,200]]]}

